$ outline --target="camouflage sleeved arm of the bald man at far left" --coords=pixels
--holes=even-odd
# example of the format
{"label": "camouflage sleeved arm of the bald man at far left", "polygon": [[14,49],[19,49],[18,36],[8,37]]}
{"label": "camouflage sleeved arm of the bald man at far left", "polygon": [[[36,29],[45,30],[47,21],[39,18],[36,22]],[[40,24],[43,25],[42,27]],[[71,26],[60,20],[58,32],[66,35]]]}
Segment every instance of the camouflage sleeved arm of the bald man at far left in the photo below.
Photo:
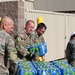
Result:
{"label": "camouflage sleeved arm of the bald man at far left", "polygon": [[6,45],[7,45],[6,47],[8,50],[8,57],[9,57],[10,63],[17,64],[18,58],[17,58],[17,51],[15,49],[14,40],[12,38],[8,38],[6,41]]}

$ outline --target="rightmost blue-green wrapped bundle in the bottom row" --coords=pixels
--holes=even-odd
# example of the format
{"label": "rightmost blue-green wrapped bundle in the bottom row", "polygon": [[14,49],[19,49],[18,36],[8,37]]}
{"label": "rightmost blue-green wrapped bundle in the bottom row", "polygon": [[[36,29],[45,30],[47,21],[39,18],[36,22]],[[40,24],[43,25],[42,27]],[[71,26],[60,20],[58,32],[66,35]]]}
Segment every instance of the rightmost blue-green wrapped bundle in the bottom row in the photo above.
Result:
{"label": "rightmost blue-green wrapped bundle in the bottom row", "polygon": [[60,69],[61,75],[75,75],[75,69],[65,60],[56,60],[52,62]]}

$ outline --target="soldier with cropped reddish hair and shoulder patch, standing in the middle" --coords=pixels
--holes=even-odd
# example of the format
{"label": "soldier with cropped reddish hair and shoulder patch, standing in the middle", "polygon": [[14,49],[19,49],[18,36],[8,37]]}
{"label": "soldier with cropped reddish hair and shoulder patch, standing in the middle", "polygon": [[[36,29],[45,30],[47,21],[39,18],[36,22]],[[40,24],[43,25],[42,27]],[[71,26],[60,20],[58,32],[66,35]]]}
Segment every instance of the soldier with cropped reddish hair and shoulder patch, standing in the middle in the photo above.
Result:
{"label": "soldier with cropped reddish hair and shoulder patch, standing in the middle", "polygon": [[31,60],[28,48],[32,45],[31,33],[33,32],[35,23],[32,20],[26,22],[25,28],[19,32],[16,38],[16,49],[20,59]]}

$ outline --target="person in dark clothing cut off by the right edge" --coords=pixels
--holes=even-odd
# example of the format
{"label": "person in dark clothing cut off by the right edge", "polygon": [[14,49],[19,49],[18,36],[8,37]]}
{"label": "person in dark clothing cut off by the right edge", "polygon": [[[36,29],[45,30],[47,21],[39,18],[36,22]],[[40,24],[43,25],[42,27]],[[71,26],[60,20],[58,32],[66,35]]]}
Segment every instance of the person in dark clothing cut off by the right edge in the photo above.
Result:
{"label": "person in dark clothing cut off by the right edge", "polygon": [[75,32],[72,33],[65,51],[68,63],[75,67]]}

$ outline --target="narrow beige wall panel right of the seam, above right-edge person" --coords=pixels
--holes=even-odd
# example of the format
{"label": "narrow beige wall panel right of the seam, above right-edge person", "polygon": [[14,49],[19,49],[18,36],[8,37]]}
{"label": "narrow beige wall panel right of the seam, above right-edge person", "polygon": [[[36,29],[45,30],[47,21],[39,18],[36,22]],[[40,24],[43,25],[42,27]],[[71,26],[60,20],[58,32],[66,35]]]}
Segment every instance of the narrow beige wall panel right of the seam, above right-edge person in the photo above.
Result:
{"label": "narrow beige wall panel right of the seam, above right-edge person", "polygon": [[72,32],[75,32],[75,15],[66,15],[66,44]]}

